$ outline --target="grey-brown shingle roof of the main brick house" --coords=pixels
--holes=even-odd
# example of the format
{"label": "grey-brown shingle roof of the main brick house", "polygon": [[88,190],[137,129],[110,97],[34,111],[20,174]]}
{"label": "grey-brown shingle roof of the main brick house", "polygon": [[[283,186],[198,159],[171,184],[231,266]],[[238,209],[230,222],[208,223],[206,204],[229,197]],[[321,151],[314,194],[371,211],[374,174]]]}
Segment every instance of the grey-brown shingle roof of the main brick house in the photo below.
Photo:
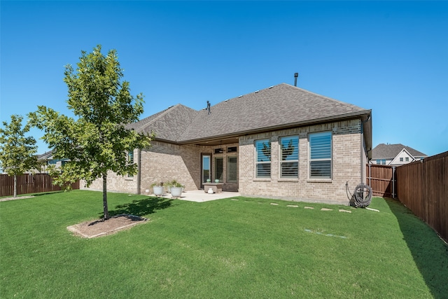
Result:
{"label": "grey-brown shingle roof of the main brick house", "polygon": [[228,99],[207,110],[178,104],[130,125],[156,139],[186,143],[370,114],[370,110],[281,83]]}

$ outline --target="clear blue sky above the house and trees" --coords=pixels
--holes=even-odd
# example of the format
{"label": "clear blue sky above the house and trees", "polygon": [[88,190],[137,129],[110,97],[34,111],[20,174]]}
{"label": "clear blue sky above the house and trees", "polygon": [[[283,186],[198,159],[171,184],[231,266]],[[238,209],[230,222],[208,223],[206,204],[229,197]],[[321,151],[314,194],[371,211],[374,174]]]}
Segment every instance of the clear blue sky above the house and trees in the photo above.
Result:
{"label": "clear blue sky above the house and trees", "polygon": [[132,94],[145,95],[142,118],[293,85],[298,72],[300,88],[372,109],[374,146],[448,151],[447,1],[3,0],[0,9],[1,121],[37,105],[71,116],[64,65],[101,44],[118,51]]}

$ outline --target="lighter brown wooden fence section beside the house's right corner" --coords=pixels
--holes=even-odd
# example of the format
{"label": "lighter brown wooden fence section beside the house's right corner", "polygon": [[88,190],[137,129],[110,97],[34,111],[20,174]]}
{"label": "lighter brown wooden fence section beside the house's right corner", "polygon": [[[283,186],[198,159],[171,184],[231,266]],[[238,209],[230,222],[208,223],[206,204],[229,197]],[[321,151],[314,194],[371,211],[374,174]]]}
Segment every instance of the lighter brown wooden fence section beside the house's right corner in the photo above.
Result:
{"label": "lighter brown wooden fence section beside the house's right corner", "polygon": [[372,195],[395,198],[395,166],[367,164],[366,167],[365,183],[372,188]]}

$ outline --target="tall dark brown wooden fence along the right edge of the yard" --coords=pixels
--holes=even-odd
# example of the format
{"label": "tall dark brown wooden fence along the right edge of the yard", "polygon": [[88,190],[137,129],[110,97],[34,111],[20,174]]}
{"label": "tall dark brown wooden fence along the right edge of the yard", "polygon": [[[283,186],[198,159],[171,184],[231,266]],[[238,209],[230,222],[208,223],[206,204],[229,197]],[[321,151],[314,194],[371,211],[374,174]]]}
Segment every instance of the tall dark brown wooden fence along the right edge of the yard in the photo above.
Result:
{"label": "tall dark brown wooden fence along the right edge of the yard", "polygon": [[448,241],[448,151],[396,172],[400,202]]}

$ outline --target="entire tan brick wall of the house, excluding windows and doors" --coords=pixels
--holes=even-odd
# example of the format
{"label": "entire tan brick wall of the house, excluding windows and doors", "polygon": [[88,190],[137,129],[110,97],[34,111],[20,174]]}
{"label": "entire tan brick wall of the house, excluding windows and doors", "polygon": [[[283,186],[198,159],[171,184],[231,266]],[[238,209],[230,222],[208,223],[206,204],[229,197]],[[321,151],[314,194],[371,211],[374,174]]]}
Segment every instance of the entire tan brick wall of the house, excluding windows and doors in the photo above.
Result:
{"label": "entire tan brick wall of the house, excluding windows and doors", "polygon": [[[309,179],[309,133],[332,132],[332,179]],[[299,177],[281,179],[279,175],[279,137],[297,135],[299,137]],[[237,153],[214,154],[214,148],[221,146],[174,145],[152,141],[151,148],[139,153],[134,151],[134,161],[139,163],[139,174],[130,178],[108,174],[108,190],[145,194],[154,182],[175,179],[186,186],[186,190],[201,188],[201,153],[212,153],[223,157],[223,171],[226,174],[227,157],[237,155],[238,183],[227,183],[223,190],[239,191],[244,196],[274,197],[287,200],[330,202],[347,204],[346,182],[349,191],[361,181],[361,171],[365,172],[365,153],[361,160],[360,120],[345,120],[323,125],[297,127],[262,134],[239,137]],[[272,148],[270,179],[255,179],[255,148],[257,139],[270,139]],[[212,171],[213,173],[214,171]],[[364,174],[365,176],[365,174]],[[80,184],[83,188],[83,183]],[[92,190],[102,190],[102,179],[92,183]],[[152,190],[150,190],[152,193]]]}

